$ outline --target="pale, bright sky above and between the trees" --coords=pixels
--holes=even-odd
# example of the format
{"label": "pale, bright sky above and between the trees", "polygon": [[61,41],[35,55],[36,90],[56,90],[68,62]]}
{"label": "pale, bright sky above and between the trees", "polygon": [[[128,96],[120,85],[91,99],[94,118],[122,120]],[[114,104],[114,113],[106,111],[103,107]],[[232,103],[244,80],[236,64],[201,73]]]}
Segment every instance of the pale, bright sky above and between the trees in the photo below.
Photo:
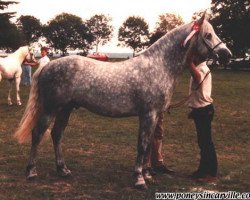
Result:
{"label": "pale, bright sky above and between the trees", "polygon": [[[46,24],[62,12],[71,13],[89,19],[95,14],[105,14],[112,18],[114,35],[129,16],[140,16],[149,24],[150,31],[155,27],[158,16],[164,13],[180,15],[184,22],[191,21],[192,14],[202,9],[210,8],[211,0],[16,0],[17,5],[9,6],[9,11],[17,12],[16,16],[32,15]],[[117,35],[116,35],[117,38]],[[122,51],[116,47],[114,38],[104,47],[103,52]],[[126,51],[129,51],[126,49]],[[130,50],[132,52],[132,50]]]}

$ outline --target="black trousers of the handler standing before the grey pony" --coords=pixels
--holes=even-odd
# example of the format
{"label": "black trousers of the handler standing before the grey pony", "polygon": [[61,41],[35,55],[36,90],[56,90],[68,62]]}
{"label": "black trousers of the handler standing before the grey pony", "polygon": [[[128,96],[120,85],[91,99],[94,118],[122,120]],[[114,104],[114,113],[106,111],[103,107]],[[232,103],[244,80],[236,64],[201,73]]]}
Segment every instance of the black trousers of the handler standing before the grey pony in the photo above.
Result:
{"label": "black trousers of the handler standing before the grey pony", "polygon": [[214,116],[213,104],[192,110],[196,126],[198,145],[200,147],[200,165],[198,171],[201,174],[217,175],[217,156],[212,142],[211,122]]}

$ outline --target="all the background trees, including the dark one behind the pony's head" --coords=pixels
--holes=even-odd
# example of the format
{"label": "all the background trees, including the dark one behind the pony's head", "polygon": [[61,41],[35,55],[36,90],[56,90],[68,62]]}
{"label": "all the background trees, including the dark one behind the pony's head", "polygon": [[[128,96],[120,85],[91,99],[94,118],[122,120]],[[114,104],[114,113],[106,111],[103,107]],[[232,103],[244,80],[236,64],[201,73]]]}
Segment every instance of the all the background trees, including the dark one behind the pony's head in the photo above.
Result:
{"label": "all the background trees, including the dark one behind the pony's head", "polygon": [[[0,0],[0,10],[15,1]],[[249,0],[213,0],[211,23],[218,35],[229,44],[237,56],[244,55],[249,50],[250,20]],[[194,13],[194,17],[199,13]],[[47,24],[41,24],[34,16],[21,16],[12,23],[10,18],[14,13],[0,13],[0,48],[16,49],[24,44],[31,44],[43,38],[55,50],[65,54],[69,49],[78,49],[86,55],[90,49],[98,51],[113,37],[112,18],[96,14],[90,19],[61,13]],[[183,24],[180,16],[174,14],[159,15],[153,32],[149,32],[148,23],[143,17],[130,16],[120,26],[118,45],[130,47],[133,52],[139,52],[171,29]]]}

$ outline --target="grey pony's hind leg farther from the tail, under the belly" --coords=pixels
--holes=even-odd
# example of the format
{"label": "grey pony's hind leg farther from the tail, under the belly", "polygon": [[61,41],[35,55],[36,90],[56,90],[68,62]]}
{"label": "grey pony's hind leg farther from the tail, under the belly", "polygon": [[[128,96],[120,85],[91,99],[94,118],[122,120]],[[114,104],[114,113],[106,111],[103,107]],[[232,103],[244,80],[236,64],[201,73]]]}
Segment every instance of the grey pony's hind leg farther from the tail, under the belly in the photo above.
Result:
{"label": "grey pony's hind leg farther from the tail, under the belly", "polygon": [[61,111],[59,111],[56,115],[55,124],[51,132],[51,137],[53,140],[54,150],[55,150],[55,158],[56,158],[56,169],[59,176],[68,177],[71,175],[71,171],[67,168],[61,148],[61,138],[63,131],[65,130],[69,116],[73,107],[65,106]]}

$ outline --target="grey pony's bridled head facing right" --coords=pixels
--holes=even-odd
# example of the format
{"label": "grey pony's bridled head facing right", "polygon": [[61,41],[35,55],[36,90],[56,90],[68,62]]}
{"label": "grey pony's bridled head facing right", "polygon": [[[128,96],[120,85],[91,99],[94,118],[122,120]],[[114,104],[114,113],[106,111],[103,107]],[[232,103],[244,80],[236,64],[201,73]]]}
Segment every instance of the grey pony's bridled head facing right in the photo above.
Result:
{"label": "grey pony's bridled head facing right", "polygon": [[196,37],[192,38],[190,47],[204,60],[208,57],[216,57],[220,64],[227,64],[232,56],[231,51],[216,35],[212,25],[206,20],[206,13],[194,22],[199,31]]}

